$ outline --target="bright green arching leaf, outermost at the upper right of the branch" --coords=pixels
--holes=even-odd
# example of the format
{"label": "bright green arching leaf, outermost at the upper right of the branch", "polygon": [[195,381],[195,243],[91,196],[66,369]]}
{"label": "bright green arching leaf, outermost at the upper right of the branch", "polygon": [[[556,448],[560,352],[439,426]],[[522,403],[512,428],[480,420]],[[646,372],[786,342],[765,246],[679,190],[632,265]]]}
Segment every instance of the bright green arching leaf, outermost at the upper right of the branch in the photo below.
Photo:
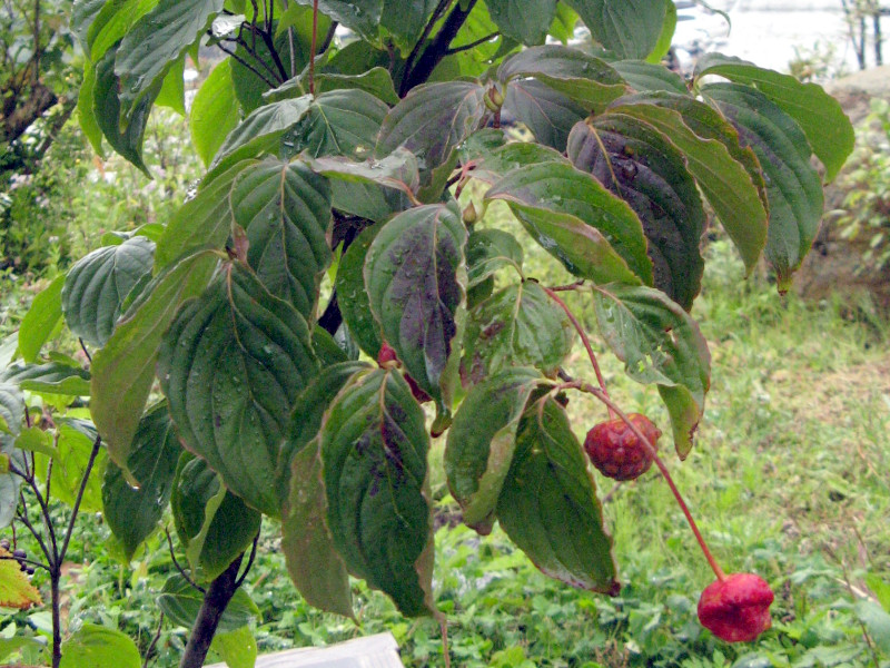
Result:
{"label": "bright green arching leaf, outermost at the upper right of the branch", "polygon": [[813,153],[825,166],[827,181],[834,179],[852,153],[856,136],[850,119],[840,102],[820,86],[802,84],[790,75],[720,53],[709,53],[699,60],[696,80],[705,75],[720,75],[736,84],[754,86],[798,121]]}

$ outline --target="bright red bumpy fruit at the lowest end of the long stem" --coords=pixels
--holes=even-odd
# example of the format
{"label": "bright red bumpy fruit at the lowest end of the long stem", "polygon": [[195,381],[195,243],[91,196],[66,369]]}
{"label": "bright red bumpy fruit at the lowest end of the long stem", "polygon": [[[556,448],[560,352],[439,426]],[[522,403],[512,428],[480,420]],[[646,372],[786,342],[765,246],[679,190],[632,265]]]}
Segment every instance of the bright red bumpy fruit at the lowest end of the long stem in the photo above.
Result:
{"label": "bright red bumpy fruit at the lowest end of the long stem", "polygon": [[705,587],[699,621],[726,642],[748,642],[770,628],[770,586],[753,573],[733,573]]}

